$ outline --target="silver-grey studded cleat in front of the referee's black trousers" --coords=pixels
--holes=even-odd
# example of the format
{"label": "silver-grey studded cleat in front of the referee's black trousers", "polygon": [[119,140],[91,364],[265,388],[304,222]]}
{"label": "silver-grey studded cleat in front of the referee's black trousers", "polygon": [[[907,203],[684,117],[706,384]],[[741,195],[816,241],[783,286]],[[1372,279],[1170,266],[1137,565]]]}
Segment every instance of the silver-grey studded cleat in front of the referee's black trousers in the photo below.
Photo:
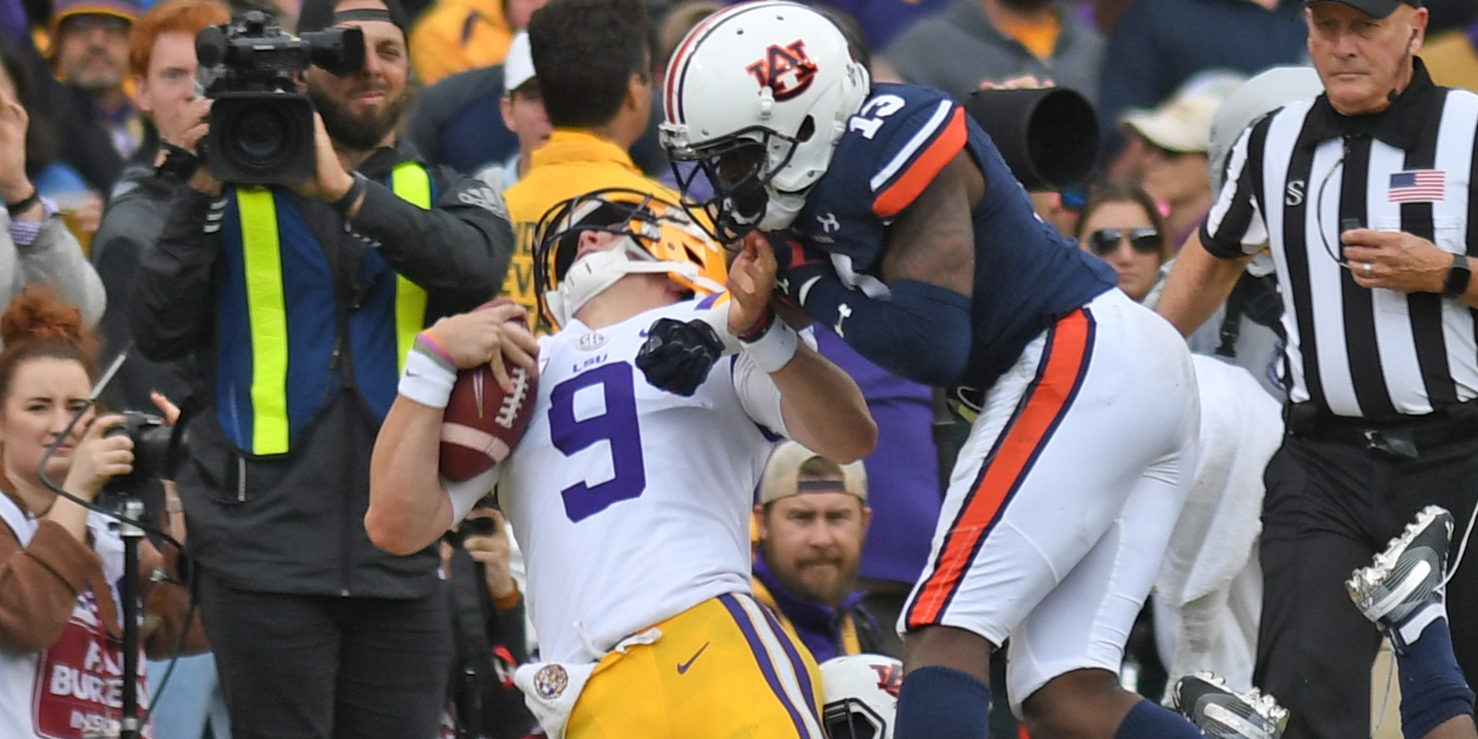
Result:
{"label": "silver-grey studded cleat in front of the referee's black trousers", "polygon": [[[1385,551],[1376,554],[1369,568],[1357,569],[1345,582],[1351,600],[1391,638],[1392,646],[1404,649],[1410,641],[1401,631],[1409,619],[1426,613],[1428,606],[1443,605],[1451,538],[1453,514],[1428,505],[1400,537],[1391,539]],[[1414,631],[1410,638],[1420,634],[1420,627]]]}

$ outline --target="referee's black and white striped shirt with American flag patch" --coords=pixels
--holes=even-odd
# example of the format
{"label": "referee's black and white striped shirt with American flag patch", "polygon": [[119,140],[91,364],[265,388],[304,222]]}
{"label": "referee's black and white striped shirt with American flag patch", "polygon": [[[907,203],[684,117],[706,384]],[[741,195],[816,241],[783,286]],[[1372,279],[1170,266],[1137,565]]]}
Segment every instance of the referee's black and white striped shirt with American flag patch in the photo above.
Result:
{"label": "referee's black and white striped shirt with American flag patch", "polygon": [[1342,223],[1478,256],[1478,95],[1435,87],[1420,59],[1376,115],[1327,98],[1253,123],[1202,226],[1218,257],[1271,247],[1283,288],[1289,399],[1335,415],[1428,414],[1478,398],[1478,310],[1435,293],[1367,290],[1341,266]]}

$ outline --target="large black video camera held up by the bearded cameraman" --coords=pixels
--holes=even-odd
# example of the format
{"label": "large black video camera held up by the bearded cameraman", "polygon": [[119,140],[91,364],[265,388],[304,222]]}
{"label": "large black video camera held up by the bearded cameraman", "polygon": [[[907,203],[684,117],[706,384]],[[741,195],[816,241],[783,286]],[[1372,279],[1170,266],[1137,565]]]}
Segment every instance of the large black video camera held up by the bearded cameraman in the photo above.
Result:
{"label": "large black video camera held up by the bearded cameraman", "polygon": [[313,103],[294,75],[316,65],[334,75],[364,67],[364,33],[327,28],[294,37],[262,10],[195,37],[195,56],[214,99],[205,164],[220,182],[297,185],[313,176]]}

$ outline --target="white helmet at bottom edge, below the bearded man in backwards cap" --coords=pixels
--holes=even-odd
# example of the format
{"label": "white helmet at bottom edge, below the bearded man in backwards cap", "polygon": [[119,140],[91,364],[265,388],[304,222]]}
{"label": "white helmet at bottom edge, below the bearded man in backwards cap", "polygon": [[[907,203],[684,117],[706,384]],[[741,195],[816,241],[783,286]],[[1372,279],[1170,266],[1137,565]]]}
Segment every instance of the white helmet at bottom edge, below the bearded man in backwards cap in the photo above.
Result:
{"label": "white helmet at bottom edge, below the bearded man in backwards cap", "polygon": [[885,655],[822,662],[822,724],[831,739],[893,739],[903,662]]}

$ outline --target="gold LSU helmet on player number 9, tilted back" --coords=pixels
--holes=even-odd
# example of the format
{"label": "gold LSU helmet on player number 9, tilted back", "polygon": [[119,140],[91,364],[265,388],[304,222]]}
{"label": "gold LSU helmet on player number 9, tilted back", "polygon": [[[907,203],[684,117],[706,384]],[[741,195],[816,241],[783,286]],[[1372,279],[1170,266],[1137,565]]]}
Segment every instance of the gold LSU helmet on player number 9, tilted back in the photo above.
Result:
{"label": "gold LSU helmet on player number 9, tilted back", "polygon": [[[624,238],[576,260],[587,231]],[[622,276],[664,272],[696,296],[721,293],[727,276],[723,248],[681,205],[650,192],[591,191],[556,204],[535,226],[534,290],[554,327]]]}

